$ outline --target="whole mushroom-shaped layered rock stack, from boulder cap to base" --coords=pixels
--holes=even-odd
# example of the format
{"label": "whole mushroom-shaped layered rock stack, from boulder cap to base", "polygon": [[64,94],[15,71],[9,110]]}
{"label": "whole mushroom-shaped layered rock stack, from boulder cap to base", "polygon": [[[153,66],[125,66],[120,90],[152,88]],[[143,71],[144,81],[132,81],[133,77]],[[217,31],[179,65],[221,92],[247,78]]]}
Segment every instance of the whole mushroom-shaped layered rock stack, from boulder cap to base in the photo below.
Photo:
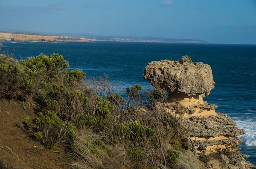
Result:
{"label": "whole mushroom-shaped layered rock stack, from boulder cap to base", "polygon": [[[186,59],[177,61],[162,60],[148,63],[144,69],[144,79],[152,86],[165,89],[169,93],[166,111],[175,112],[175,104],[181,104],[185,112],[184,120],[189,124],[189,140],[192,149],[199,157],[218,158],[208,161],[206,167],[212,169],[247,169],[255,167],[244,160],[236,144],[241,142],[238,135],[244,135],[242,129],[223,113],[215,112],[218,107],[203,100],[214,88],[211,67],[207,64],[189,63]],[[230,151],[229,151],[230,150]],[[230,153],[225,153],[227,151]],[[232,152],[232,153],[231,153]],[[217,160],[216,160],[217,159]]]}

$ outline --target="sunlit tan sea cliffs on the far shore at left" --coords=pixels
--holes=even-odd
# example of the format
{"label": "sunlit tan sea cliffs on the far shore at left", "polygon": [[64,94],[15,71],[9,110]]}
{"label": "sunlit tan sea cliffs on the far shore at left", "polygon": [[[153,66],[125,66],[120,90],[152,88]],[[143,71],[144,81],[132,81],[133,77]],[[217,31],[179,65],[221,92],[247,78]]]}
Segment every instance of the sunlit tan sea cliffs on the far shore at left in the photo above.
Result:
{"label": "sunlit tan sea cliffs on the far shore at left", "polygon": [[60,35],[45,35],[45,34],[29,34],[29,33],[11,33],[0,32],[0,40],[12,41],[38,41],[38,42],[56,42],[56,41],[70,41],[70,42],[91,42],[86,38],[77,38]]}

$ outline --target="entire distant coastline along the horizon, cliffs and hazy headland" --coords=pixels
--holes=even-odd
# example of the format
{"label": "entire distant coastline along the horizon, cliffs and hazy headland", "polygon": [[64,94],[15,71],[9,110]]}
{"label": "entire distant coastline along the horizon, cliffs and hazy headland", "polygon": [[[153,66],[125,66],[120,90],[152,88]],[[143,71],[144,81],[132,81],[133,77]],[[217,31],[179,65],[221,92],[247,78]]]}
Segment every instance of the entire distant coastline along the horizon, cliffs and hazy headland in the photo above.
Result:
{"label": "entire distant coastline along the horizon, cliffs and hazy headland", "polygon": [[[207,43],[205,40],[198,39],[177,39],[168,37],[139,37],[139,36],[115,36],[115,35],[99,35],[99,34],[87,34],[87,33],[51,33],[51,32],[26,32],[21,30],[0,30],[0,34],[15,34],[14,36],[0,35],[0,40],[14,40],[14,41],[39,41],[42,42],[44,38],[48,38],[48,42],[56,41],[71,41],[71,42],[93,42],[93,41],[109,41],[109,42],[149,42],[149,43]],[[18,38],[23,34],[23,38]],[[35,40],[29,37],[34,36]],[[44,37],[44,38],[42,38]],[[50,38],[51,37],[51,38]],[[45,40],[46,41],[46,40]]]}

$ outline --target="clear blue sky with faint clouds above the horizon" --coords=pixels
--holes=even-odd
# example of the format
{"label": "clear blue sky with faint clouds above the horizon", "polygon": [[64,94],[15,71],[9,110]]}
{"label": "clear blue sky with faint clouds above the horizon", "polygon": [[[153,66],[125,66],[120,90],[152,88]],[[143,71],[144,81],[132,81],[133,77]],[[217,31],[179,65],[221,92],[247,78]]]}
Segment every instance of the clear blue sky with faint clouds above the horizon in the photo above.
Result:
{"label": "clear blue sky with faint clouds above the horizon", "polygon": [[0,31],[256,44],[256,0],[0,0]]}

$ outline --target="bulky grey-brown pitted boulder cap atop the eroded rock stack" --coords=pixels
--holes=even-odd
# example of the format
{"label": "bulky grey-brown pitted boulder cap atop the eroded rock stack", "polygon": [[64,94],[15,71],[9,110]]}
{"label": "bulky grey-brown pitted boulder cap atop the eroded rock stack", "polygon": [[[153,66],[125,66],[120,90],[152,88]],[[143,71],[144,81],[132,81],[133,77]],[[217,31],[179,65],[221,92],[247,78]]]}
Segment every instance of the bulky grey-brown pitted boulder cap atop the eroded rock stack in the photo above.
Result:
{"label": "bulky grey-brown pitted boulder cap atop the eroded rock stack", "polygon": [[188,96],[209,95],[214,88],[211,66],[201,62],[153,61],[145,67],[143,77],[152,86]]}

